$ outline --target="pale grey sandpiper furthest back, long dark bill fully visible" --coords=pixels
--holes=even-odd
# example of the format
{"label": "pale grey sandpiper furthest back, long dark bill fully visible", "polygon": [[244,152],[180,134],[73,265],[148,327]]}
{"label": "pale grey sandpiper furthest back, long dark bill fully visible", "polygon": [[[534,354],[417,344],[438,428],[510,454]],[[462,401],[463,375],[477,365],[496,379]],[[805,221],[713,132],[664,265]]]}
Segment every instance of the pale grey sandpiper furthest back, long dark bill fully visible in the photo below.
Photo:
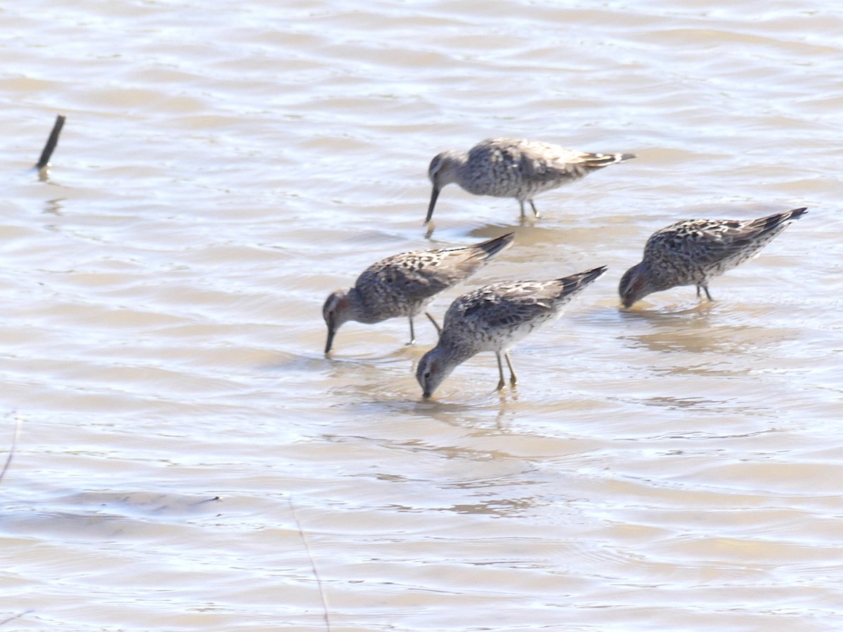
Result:
{"label": "pale grey sandpiper furthest back, long dark bill fully visible", "polygon": [[427,175],[433,185],[425,223],[433,217],[439,191],[452,182],[474,195],[514,197],[529,202],[535,217],[534,195],[556,189],[596,169],[635,158],[631,153],[583,153],[549,142],[490,138],[468,152],[452,149],[432,159]]}

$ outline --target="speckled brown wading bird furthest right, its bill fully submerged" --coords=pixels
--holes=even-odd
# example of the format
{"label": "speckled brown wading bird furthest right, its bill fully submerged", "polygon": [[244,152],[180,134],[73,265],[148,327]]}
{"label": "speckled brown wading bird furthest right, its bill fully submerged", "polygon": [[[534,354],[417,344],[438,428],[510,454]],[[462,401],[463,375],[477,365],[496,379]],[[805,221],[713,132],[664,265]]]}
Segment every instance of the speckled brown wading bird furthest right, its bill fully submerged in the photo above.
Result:
{"label": "speckled brown wading bird furthest right, its bill fully submerged", "polygon": [[708,292],[708,281],[760,253],[806,209],[776,213],[751,220],[689,219],[653,233],[644,246],[641,263],[620,279],[620,301],[628,308],[652,292],[671,287],[696,286]]}

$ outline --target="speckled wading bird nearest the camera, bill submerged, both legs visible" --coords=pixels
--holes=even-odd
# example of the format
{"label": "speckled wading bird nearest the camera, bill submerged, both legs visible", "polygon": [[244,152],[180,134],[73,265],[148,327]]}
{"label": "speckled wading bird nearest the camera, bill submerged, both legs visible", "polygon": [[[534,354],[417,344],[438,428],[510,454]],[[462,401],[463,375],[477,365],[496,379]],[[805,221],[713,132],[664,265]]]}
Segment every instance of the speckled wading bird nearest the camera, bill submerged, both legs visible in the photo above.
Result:
{"label": "speckled wading bird nearest the camera, bill submerged, both legs visible", "polygon": [[454,368],[481,351],[494,351],[503,388],[501,354],[507,359],[509,381],[517,381],[509,349],[533,329],[558,318],[571,298],[606,271],[605,267],[552,281],[509,281],[481,287],[458,297],[448,312],[438,345],[421,358],[416,379],[430,397]]}

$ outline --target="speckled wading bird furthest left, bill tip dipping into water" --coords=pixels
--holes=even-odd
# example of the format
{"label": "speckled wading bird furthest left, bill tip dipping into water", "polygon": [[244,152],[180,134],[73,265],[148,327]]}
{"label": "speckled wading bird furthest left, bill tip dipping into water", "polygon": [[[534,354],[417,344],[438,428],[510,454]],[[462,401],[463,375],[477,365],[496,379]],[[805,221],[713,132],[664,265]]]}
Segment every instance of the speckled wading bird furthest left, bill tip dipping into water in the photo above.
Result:
{"label": "speckled wading bird furthest left, bill tip dipping into water", "polygon": [[[330,352],[336,330],[348,320],[379,323],[407,316],[410,319],[410,344],[416,341],[413,316],[421,313],[433,297],[473,275],[496,254],[513,243],[514,233],[507,233],[481,244],[463,248],[416,250],[393,254],[370,265],[357,277],[347,292],[336,290],[322,307],[328,325],[325,354]],[[437,326],[433,317],[427,318]]]}

